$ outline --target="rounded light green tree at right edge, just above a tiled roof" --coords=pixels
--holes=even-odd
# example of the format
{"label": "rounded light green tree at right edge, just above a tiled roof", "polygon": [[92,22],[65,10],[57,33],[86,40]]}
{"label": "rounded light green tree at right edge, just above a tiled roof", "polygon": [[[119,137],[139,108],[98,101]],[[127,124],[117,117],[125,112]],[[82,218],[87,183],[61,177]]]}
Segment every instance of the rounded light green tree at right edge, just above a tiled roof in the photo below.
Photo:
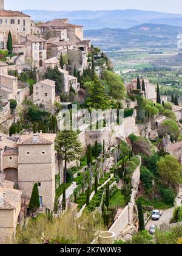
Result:
{"label": "rounded light green tree at right edge, just above a tiled roof", "polygon": [[161,137],[164,137],[168,134],[170,135],[170,139],[174,141],[178,139],[180,129],[174,120],[167,119],[158,128],[158,133]]}

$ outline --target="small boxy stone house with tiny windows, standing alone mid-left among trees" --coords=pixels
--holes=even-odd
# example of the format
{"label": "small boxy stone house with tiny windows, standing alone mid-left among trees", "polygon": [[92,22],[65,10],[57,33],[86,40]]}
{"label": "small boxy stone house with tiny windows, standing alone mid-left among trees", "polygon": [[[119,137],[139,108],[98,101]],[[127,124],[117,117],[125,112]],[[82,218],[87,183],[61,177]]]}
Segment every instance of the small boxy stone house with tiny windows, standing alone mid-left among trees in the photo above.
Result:
{"label": "small boxy stone house with tiny windows, standing alone mid-left among trees", "polygon": [[33,85],[33,103],[43,104],[46,109],[49,109],[56,101],[60,102],[59,96],[56,96],[55,87],[55,81],[49,79]]}

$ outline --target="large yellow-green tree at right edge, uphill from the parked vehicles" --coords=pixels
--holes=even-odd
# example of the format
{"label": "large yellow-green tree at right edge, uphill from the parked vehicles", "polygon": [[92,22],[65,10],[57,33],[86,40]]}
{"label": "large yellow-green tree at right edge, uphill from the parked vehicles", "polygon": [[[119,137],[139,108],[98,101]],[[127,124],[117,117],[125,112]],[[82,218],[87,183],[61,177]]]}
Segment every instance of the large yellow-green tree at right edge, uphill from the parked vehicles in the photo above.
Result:
{"label": "large yellow-green tree at right edge, uphill from the parked vehicles", "polygon": [[173,155],[166,155],[157,162],[158,172],[167,187],[175,185],[181,179],[182,166]]}

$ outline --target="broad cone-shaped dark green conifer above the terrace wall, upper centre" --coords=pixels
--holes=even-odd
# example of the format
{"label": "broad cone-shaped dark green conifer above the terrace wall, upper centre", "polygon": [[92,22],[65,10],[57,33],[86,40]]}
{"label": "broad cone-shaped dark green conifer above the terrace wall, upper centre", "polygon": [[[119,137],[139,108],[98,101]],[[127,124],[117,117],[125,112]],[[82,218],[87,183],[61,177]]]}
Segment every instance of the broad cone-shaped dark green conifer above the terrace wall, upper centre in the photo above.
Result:
{"label": "broad cone-shaped dark green conifer above the terrace wall, upper centre", "polygon": [[95,109],[108,109],[110,107],[109,98],[106,94],[104,85],[101,83],[96,74],[93,77],[93,82],[90,84],[88,91],[88,98],[86,99],[86,105]]}

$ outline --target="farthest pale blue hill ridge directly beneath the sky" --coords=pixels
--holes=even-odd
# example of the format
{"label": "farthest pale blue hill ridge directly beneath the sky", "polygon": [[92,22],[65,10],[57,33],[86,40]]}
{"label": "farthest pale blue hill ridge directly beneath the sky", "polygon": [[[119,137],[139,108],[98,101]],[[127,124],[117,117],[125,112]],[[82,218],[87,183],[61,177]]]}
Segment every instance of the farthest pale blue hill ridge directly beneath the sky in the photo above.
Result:
{"label": "farthest pale blue hill ridge directly beneath the sky", "polygon": [[80,24],[85,29],[104,27],[127,29],[143,23],[169,24],[182,26],[182,15],[144,10],[100,10],[100,11],[58,11],[22,10],[36,21],[49,21],[56,18],[69,18],[70,23]]}

